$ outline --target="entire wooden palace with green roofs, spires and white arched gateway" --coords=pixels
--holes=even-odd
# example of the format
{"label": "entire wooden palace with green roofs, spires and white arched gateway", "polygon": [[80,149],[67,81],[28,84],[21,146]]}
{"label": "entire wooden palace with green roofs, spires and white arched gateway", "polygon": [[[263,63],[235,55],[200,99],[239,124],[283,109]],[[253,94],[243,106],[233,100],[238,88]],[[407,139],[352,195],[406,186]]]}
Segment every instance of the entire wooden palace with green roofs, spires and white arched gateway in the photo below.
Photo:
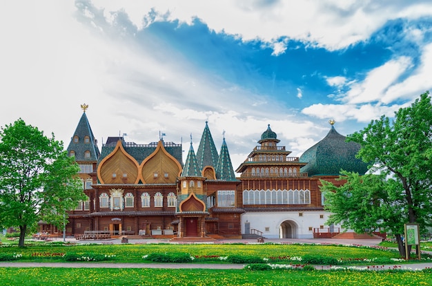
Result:
{"label": "entire wooden palace with green roofs, spires and white arched gateway", "polygon": [[[75,156],[88,200],[69,212],[68,236],[201,238],[324,238],[340,232],[325,225],[328,212],[320,179],[340,169],[366,172],[355,158],[360,146],[331,129],[297,157],[279,146],[267,126],[258,145],[238,166],[236,178],[225,138],[219,153],[206,122],[197,152],[185,162],[182,145],[136,144],[108,137],[101,151],[84,113],[68,153]],[[62,230],[41,223],[42,231]]]}

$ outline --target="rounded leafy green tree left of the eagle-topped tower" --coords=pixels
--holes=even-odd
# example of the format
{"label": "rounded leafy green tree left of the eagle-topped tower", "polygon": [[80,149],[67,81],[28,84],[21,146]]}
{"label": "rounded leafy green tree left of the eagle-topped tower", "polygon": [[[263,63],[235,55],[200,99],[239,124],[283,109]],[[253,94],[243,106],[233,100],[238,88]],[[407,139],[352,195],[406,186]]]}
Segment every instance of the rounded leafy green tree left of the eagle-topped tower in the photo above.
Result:
{"label": "rounded leafy green tree left of the eagle-topped tower", "polygon": [[79,166],[63,142],[21,120],[0,131],[0,225],[19,227],[23,247],[28,227],[39,220],[61,225],[66,211],[84,200]]}

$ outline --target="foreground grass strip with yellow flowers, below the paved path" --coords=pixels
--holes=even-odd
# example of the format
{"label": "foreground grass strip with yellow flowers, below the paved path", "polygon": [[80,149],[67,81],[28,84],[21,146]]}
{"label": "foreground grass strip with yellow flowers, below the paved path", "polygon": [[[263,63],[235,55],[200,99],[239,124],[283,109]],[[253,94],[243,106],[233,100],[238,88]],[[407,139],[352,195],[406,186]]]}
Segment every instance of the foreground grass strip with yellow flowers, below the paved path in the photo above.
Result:
{"label": "foreground grass strip with yellow flowers, below the paved path", "polygon": [[424,271],[0,268],[2,285],[432,285]]}

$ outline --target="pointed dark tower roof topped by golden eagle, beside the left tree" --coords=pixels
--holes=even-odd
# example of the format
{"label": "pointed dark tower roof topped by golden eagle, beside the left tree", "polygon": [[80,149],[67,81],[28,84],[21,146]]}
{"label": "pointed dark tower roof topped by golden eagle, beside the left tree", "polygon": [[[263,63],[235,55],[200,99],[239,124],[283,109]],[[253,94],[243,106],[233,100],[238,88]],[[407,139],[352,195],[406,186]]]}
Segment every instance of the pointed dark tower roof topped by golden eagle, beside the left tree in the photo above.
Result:
{"label": "pointed dark tower roof topped by golden eagle, beside the left tree", "polygon": [[[84,113],[81,115],[81,119],[79,120],[77,128],[70,139],[67,150],[68,153],[71,151],[75,152],[76,161],[97,161],[101,153],[97,147],[97,140],[95,139],[95,135],[93,135],[90,123],[88,123],[86,115],[86,109],[88,106],[84,104],[84,107],[81,106]],[[86,153],[88,155],[86,155]]]}

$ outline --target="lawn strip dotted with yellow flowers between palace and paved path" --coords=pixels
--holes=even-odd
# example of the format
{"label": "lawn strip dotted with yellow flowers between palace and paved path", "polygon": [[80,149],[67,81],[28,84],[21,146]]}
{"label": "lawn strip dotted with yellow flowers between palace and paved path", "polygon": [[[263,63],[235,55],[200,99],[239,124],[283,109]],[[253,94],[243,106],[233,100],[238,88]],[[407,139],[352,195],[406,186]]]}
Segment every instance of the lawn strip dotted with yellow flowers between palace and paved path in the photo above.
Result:
{"label": "lawn strip dotted with yellow flowers between palace and paved path", "polygon": [[[346,261],[371,260],[374,258],[399,258],[397,251],[388,251],[371,247],[346,247],[342,245],[297,245],[297,244],[122,244],[122,245],[72,245],[36,244],[27,247],[0,247],[0,254],[22,254],[20,261],[61,261],[61,254],[93,253],[115,255],[116,262],[143,263],[142,256],[152,253],[186,253],[190,256],[258,256],[301,257],[305,255],[330,256]],[[367,261],[366,261],[367,263]]]}

